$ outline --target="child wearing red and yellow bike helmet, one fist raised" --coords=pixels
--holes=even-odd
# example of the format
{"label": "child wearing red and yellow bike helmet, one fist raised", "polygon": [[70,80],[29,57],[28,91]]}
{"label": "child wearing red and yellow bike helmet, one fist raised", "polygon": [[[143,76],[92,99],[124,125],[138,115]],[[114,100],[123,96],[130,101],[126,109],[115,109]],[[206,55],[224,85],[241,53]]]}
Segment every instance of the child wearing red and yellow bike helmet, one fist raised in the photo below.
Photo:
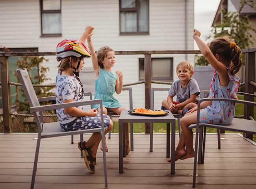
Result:
{"label": "child wearing red and yellow bike helmet, one fist raised", "polygon": [[[93,31],[93,26],[86,26],[80,39],[65,39],[56,48],[58,74],[56,76],[57,104],[68,102],[81,102],[83,100],[83,85],[79,80],[85,57],[91,54],[85,46],[87,36]],[[83,111],[82,106],[57,109],[58,121],[61,129],[65,131],[83,130],[101,127],[100,113],[93,108]],[[108,115],[104,115],[105,135],[112,127],[113,122]],[[89,171],[95,172],[95,159],[102,137],[100,133],[93,133],[88,141],[78,143],[83,152],[85,165]]]}

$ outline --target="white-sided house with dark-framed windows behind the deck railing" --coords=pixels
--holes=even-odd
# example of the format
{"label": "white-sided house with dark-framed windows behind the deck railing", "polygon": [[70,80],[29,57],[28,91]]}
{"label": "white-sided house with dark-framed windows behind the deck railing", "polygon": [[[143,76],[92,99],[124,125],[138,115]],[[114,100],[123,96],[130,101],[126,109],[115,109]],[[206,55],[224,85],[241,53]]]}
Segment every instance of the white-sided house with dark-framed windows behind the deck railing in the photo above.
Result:
{"label": "white-sided house with dark-framed windows behind the deck railing", "polygon": [[[187,16],[186,16],[187,15]],[[187,20],[186,20],[187,18]],[[0,0],[0,48],[14,52],[55,52],[63,39],[80,38],[85,26],[95,26],[95,50],[110,46],[115,51],[193,50],[194,0]],[[187,30],[186,30],[187,28]],[[87,44],[87,43],[86,43]],[[55,56],[45,66],[54,83],[58,62]],[[143,55],[117,55],[114,70],[124,74],[124,84],[143,80]],[[176,65],[194,55],[152,55],[152,80],[177,80]],[[10,67],[15,70],[15,60]],[[92,67],[85,59],[85,67]],[[12,74],[12,73],[11,73]],[[15,81],[14,81],[15,82]],[[145,107],[144,84],[133,85],[135,107]],[[170,85],[152,84],[152,87]],[[128,94],[115,97],[128,108]],[[156,95],[156,109],[167,98]]]}

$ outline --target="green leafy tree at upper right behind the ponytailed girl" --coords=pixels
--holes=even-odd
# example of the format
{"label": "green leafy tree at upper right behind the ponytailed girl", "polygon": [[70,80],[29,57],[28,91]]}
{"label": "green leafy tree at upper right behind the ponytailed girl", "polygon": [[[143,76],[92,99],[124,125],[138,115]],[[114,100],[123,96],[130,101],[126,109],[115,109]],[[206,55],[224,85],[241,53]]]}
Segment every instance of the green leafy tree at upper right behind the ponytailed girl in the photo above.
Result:
{"label": "green leafy tree at upper right behind the ponytailed girl", "polygon": [[[249,15],[241,15],[241,11],[245,5],[248,5],[256,10],[256,2],[254,0],[241,0],[239,2],[241,7],[237,12],[228,12],[222,9],[219,13],[224,13],[222,20],[217,22],[211,30],[211,34],[206,37],[206,40],[222,37],[229,35],[235,40],[235,43],[241,48],[249,48],[255,43],[255,39],[252,38],[250,31],[255,32],[256,30],[252,28],[252,22],[249,20]],[[243,55],[243,62],[245,62],[245,57]],[[209,65],[208,61],[204,56],[195,56],[195,65],[204,66]]]}

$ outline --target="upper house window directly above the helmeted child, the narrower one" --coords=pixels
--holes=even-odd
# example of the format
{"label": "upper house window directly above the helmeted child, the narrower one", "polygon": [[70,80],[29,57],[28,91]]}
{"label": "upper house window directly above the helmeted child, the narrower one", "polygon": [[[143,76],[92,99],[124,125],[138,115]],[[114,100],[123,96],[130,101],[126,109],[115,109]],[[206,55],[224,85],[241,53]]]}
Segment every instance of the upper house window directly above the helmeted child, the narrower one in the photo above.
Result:
{"label": "upper house window directly above the helmeted child, the narrower one", "polygon": [[61,0],[40,0],[42,37],[61,36]]}

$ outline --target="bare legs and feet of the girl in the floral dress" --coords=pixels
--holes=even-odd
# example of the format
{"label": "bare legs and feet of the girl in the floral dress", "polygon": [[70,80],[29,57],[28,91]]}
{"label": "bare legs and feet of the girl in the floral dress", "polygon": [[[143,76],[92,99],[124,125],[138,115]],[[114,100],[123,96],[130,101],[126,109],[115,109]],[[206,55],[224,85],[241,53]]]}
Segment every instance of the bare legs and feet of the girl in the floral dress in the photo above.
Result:
{"label": "bare legs and feet of the girl in the floral dress", "polygon": [[[193,131],[189,129],[189,125],[197,122],[197,111],[189,113],[180,119],[180,126],[182,132],[180,135],[180,141],[175,150],[175,161],[178,159],[193,158],[195,151],[193,148]],[[186,148],[185,148],[186,146]],[[171,158],[167,160],[171,162]]]}

